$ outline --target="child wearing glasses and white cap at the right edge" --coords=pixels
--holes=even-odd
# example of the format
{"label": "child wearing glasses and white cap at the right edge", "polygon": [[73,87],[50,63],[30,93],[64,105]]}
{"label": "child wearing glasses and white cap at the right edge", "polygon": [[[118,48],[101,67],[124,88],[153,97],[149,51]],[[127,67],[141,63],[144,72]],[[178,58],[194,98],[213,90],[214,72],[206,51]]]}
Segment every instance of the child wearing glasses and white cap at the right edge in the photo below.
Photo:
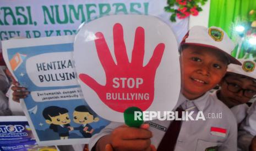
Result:
{"label": "child wearing glasses and white cap at the right edge", "polygon": [[[242,66],[228,65],[221,89],[213,96],[228,106],[241,123],[238,131],[238,150],[256,151],[256,102],[249,108],[247,102],[256,97],[256,62],[239,59]],[[249,109],[248,109],[249,108]]]}

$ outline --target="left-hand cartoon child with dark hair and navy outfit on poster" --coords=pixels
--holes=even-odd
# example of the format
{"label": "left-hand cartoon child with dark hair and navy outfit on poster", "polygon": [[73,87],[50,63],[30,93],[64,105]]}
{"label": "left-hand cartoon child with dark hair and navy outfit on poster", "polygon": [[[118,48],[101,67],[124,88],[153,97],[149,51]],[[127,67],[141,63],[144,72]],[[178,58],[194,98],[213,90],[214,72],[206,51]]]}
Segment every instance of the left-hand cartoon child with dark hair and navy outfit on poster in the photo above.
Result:
{"label": "left-hand cartoon child with dark hair and navy outfit on poster", "polygon": [[70,119],[66,108],[49,106],[43,109],[42,114],[46,123],[50,124],[50,129],[57,132],[61,140],[68,139],[72,127],[69,127]]}

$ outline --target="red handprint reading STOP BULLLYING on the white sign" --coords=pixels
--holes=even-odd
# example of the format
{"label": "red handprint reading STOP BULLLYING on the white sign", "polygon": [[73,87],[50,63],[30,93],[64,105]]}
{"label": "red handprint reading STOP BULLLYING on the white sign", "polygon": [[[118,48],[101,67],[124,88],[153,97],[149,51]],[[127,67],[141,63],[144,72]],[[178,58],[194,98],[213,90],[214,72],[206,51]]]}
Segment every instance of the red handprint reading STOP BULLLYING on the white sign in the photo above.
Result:
{"label": "red handprint reading STOP BULLLYING on the white sign", "polygon": [[115,24],[113,41],[116,65],[104,35],[97,32],[95,36],[97,54],[106,74],[106,85],[100,85],[87,74],[79,74],[79,78],[111,109],[124,112],[128,107],[136,106],[145,111],[154,100],[155,73],[160,65],[165,44],[160,43],[155,47],[151,59],[143,67],[145,34],[143,27],[138,27],[135,31],[132,61],[129,62],[123,27],[121,24]]}

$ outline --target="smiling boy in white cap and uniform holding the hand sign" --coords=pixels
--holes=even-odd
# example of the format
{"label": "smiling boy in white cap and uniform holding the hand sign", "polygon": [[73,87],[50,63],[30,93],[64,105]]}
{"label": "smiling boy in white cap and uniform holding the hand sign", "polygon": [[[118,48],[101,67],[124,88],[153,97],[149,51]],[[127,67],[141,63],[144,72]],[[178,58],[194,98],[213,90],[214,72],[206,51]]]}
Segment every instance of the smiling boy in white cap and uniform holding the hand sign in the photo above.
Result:
{"label": "smiling boy in white cap and uniform holding the hand sign", "polygon": [[[181,46],[181,94],[173,111],[178,107],[193,111],[193,118],[203,112],[206,120],[182,121],[173,150],[236,150],[236,119],[224,103],[214,100],[208,92],[224,77],[228,63],[241,64],[229,55],[234,44],[220,28],[195,26],[184,37]],[[209,117],[220,113],[222,118]],[[140,128],[111,123],[92,136],[89,148],[155,150],[172,122],[152,120]]]}

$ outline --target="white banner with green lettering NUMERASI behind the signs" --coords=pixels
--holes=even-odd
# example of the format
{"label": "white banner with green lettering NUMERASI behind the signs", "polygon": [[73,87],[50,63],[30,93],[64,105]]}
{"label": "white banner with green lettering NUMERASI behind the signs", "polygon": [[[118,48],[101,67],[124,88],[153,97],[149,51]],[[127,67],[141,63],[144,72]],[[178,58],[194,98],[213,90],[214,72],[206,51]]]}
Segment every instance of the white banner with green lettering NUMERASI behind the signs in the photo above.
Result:
{"label": "white banner with green lettering NUMERASI behind the signs", "polygon": [[[178,41],[188,30],[188,19],[171,22],[165,0],[2,0],[0,40],[13,37],[50,37],[75,34],[83,22],[112,14],[154,15],[172,27]],[[0,43],[0,48],[1,48]]]}

